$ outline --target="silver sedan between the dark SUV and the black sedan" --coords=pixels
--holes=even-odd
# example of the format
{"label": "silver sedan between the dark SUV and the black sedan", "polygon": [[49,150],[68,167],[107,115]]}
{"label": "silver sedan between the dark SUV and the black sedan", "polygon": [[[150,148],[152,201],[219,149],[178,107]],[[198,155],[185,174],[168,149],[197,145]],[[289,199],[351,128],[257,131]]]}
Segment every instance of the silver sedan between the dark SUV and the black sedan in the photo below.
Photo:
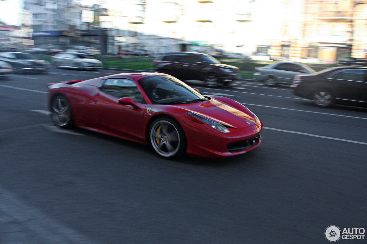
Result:
{"label": "silver sedan between the dark SUV and the black sedan", "polygon": [[254,80],[264,81],[265,85],[275,86],[276,84],[292,84],[295,75],[315,72],[305,64],[280,62],[264,67],[256,67],[253,78]]}

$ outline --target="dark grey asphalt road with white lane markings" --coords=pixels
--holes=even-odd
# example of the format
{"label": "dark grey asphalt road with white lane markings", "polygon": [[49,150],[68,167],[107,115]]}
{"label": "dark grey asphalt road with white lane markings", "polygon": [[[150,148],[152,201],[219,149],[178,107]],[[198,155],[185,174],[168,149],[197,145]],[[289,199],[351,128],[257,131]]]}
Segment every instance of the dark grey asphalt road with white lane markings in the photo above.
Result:
{"label": "dark grey asphalt road with white lane markings", "polygon": [[55,243],[329,243],[330,225],[367,229],[366,109],[317,108],[289,86],[189,82],[264,123],[258,148],[215,160],[165,160],[146,145],[55,129],[48,82],[116,73],[0,80],[0,220],[25,221]]}

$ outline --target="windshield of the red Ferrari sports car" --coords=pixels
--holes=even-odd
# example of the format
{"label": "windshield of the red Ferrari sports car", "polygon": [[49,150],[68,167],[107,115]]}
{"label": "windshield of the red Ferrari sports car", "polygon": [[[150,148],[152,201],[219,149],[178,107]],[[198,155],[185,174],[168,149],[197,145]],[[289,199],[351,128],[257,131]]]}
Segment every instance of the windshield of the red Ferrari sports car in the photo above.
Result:
{"label": "windshield of the red Ferrari sports car", "polygon": [[152,104],[186,104],[210,99],[169,75],[141,78],[138,83]]}

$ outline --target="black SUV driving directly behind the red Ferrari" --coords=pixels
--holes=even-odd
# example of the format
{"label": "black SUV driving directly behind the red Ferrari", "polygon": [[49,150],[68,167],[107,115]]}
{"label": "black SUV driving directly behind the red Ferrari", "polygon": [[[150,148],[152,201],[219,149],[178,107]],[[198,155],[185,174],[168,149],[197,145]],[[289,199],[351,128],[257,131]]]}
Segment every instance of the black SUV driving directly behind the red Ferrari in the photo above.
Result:
{"label": "black SUV driving directly behind the red Ferrari", "polygon": [[153,71],[170,74],[178,79],[204,81],[209,87],[228,85],[239,78],[239,68],[223,64],[210,55],[199,52],[169,52],[153,60]]}

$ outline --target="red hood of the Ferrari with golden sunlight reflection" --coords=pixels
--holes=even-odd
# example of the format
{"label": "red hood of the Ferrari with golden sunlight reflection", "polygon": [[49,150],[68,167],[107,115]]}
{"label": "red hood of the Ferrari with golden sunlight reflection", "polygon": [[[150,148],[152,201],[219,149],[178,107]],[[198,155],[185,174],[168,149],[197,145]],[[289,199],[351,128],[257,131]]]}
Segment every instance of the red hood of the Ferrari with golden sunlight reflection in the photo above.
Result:
{"label": "red hood of the Ferrari with golden sunlight reflection", "polygon": [[186,104],[185,109],[212,121],[237,129],[249,127],[259,123],[258,119],[255,119],[245,112],[229,106],[228,104],[222,103],[221,101],[214,98],[200,104]]}

